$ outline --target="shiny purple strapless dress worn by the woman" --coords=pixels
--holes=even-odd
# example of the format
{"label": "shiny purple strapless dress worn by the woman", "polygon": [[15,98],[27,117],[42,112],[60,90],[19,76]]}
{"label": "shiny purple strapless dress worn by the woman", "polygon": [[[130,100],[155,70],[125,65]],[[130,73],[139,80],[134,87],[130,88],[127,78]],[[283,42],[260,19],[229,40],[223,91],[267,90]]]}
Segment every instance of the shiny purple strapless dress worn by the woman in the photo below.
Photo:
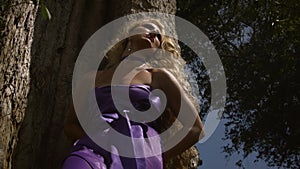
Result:
{"label": "shiny purple strapless dress worn by the woman", "polygon": [[[124,116],[117,111],[116,106],[111,96],[111,87],[117,90],[118,96],[114,98],[117,101],[118,107],[121,106],[126,110],[128,104],[132,104],[138,111],[145,111],[152,105],[159,112],[161,103],[158,96],[150,96],[151,87],[149,85],[117,85],[117,86],[104,86],[97,87],[95,89],[96,99],[99,109],[102,113],[101,119],[103,123],[108,123],[110,128],[122,133],[123,135],[131,138],[149,138],[157,136],[158,133],[152,127],[155,122],[141,123],[135,122]],[[122,98],[125,94],[124,89],[129,87],[129,98],[126,100]],[[127,91],[128,92],[128,91]],[[116,102],[115,101],[115,102]],[[106,144],[109,144],[111,150],[107,151],[93,142],[88,136],[84,136],[79,139],[71,149],[70,155],[65,159],[63,163],[63,169],[162,169],[163,159],[162,153],[155,156],[147,157],[123,157],[118,155],[120,151],[133,151],[138,150],[161,152],[161,144],[157,142],[147,142],[144,144],[135,144],[135,142],[127,142],[127,145],[122,145],[122,140],[114,138],[114,135],[103,135],[103,139]],[[149,139],[151,140],[151,139]],[[121,143],[121,144],[120,144]],[[124,147],[126,147],[124,149]]]}

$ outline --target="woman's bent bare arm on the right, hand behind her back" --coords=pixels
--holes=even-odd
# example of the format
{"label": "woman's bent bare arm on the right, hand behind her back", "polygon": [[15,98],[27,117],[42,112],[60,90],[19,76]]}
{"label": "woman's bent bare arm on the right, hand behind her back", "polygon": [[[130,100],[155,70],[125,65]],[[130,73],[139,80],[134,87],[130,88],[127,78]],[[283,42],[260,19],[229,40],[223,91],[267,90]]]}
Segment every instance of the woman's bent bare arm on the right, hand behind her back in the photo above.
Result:
{"label": "woman's bent bare arm on the right, hand behind her back", "polygon": [[[167,97],[167,107],[171,109],[176,117],[179,111],[184,113],[184,115],[178,119],[183,127],[166,143],[167,145],[164,146],[172,146],[171,149],[164,153],[165,158],[170,158],[196,144],[198,140],[204,136],[204,128],[195,106],[170,72],[165,69],[153,69],[152,85],[165,93]],[[194,123],[191,124],[191,121]],[[185,135],[185,137],[176,144],[176,141],[182,138],[183,135]]]}

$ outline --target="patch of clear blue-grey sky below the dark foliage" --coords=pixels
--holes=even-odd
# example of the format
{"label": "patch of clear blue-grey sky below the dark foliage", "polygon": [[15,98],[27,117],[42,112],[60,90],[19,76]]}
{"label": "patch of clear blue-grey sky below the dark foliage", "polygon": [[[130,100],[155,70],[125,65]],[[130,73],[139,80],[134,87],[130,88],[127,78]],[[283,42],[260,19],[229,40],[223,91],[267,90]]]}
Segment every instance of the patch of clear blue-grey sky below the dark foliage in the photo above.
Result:
{"label": "patch of clear blue-grey sky below the dark foliage", "polygon": [[[197,147],[200,151],[203,165],[198,169],[239,169],[235,163],[242,159],[239,155],[231,156],[230,159],[225,158],[225,153],[222,153],[222,146],[225,146],[228,141],[222,140],[225,134],[225,121],[221,120],[215,132],[204,143],[198,143]],[[275,167],[268,167],[264,161],[254,163],[255,154],[249,155],[244,160],[244,167],[246,169],[275,169]],[[278,167],[277,167],[278,168]]]}

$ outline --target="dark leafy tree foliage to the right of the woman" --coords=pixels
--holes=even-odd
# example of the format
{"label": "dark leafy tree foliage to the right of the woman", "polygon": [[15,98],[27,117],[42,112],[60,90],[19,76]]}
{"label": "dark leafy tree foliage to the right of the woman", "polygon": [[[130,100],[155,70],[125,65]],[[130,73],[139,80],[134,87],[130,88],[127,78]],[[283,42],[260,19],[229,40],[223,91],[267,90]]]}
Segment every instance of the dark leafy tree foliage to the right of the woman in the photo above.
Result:
{"label": "dark leafy tree foliage to the right of the woman", "polygon": [[227,156],[257,152],[269,166],[299,168],[300,2],[179,0],[178,7],[225,67]]}

